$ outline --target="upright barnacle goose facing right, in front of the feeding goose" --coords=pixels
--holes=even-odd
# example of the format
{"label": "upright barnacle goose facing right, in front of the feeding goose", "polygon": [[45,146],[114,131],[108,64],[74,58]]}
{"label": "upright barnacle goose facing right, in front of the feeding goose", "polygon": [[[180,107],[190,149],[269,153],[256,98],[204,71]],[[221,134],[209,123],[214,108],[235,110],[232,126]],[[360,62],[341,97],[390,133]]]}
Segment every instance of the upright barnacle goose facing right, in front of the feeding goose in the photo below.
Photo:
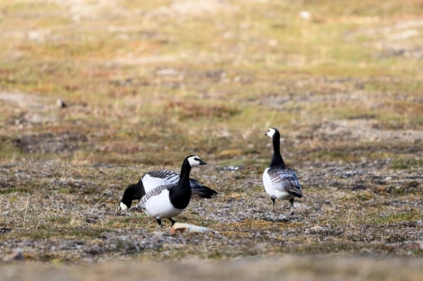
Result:
{"label": "upright barnacle goose facing right, in front of the feeding goose", "polygon": [[174,216],[181,214],[188,206],[191,199],[190,171],[198,165],[205,165],[200,157],[189,155],[182,163],[181,174],[177,183],[160,185],[150,189],[139,200],[138,206],[148,215],[156,219],[161,226],[161,220],[167,218],[172,225],[175,224]]}

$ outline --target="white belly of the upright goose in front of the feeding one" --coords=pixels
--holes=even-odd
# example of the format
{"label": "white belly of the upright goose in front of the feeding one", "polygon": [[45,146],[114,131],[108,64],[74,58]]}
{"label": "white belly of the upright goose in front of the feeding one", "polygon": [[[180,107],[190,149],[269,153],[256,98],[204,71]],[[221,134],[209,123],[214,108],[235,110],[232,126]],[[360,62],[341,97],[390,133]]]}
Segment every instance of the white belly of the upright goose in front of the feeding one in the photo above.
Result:
{"label": "white belly of the upright goose in front of the feeding one", "polygon": [[169,200],[169,190],[165,189],[159,195],[153,196],[145,203],[145,211],[154,218],[171,218],[182,213],[182,209],[172,206]]}

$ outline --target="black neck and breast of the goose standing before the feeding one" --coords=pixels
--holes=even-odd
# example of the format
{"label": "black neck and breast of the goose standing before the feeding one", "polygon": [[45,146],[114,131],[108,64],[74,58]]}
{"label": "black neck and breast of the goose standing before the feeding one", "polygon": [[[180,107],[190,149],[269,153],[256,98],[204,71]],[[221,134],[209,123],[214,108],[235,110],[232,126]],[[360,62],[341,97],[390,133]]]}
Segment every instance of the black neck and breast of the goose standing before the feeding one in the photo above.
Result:
{"label": "black neck and breast of the goose standing before the feeding one", "polygon": [[184,209],[190,203],[191,186],[190,186],[191,165],[187,159],[182,163],[181,175],[178,183],[173,189],[169,190],[170,202],[177,209]]}

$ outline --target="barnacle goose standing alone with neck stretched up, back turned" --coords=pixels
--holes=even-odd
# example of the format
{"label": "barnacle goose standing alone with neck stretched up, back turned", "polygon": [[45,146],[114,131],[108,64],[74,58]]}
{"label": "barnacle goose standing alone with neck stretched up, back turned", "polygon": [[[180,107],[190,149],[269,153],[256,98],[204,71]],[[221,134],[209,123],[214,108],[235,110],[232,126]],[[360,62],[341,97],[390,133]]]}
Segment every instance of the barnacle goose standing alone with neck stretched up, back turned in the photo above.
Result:
{"label": "barnacle goose standing alone with neck stretched up, back turned", "polygon": [[275,127],[268,129],[266,136],[273,139],[274,155],[269,167],[263,173],[263,184],[266,193],[270,195],[275,208],[275,199],[289,200],[291,203],[291,215],[293,215],[293,198],[302,198],[302,188],[298,182],[295,171],[288,168],[281,155],[281,135]]}

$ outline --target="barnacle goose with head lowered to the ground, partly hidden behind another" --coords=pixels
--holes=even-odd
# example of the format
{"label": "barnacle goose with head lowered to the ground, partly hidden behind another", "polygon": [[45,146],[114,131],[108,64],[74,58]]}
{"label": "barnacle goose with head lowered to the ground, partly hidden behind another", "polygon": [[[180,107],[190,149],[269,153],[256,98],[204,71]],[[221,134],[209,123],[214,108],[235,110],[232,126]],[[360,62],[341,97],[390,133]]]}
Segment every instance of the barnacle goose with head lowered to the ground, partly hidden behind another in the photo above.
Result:
{"label": "barnacle goose with head lowered to the ground, partly hidden behind another", "polygon": [[[158,186],[177,183],[179,178],[179,174],[175,173],[175,171],[148,171],[137,183],[131,184],[125,189],[125,191],[123,191],[118,211],[129,210],[133,200],[139,200],[146,194],[146,192],[151,189],[155,189]],[[197,195],[201,198],[212,198],[218,194],[215,190],[204,186],[202,182],[198,180],[189,180],[192,195]]]}

